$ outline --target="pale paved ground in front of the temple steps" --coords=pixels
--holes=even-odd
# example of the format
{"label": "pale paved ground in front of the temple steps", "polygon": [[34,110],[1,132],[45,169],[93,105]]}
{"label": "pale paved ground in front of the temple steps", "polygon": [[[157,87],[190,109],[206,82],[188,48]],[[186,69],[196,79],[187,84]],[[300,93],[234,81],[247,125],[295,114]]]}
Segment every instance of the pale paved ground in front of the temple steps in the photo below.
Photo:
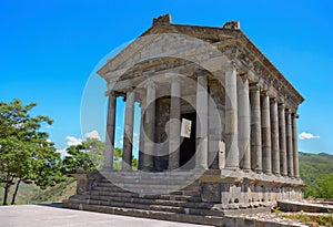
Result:
{"label": "pale paved ground in front of the temple steps", "polygon": [[[193,224],[63,209],[49,205],[0,206],[0,227],[192,227]],[[200,227],[198,225],[198,227]],[[204,227],[204,226],[201,226]]]}

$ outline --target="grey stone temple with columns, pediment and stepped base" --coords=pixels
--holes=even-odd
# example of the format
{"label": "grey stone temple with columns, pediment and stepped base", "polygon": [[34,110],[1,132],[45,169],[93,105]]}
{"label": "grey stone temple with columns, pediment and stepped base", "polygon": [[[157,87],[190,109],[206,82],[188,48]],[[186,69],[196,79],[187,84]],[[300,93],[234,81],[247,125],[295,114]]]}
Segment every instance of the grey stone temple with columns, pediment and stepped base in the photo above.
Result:
{"label": "grey stone temple with columns, pediment and stepped base", "polygon": [[[302,199],[296,118],[304,99],[239,22],[181,25],[161,16],[98,74],[109,99],[104,168],[75,174],[77,194],[64,207],[219,226],[225,215]],[[124,140],[115,171],[119,96]]]}

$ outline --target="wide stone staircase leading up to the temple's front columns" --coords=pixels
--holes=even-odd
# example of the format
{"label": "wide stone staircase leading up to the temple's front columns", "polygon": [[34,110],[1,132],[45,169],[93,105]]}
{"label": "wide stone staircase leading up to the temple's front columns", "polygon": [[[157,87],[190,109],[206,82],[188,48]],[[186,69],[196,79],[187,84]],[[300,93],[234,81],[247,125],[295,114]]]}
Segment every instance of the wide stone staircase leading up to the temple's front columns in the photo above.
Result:
{"label": "wide stone staircase leading up to the temple's front columns", "polygon": [[[222,225],[224,214],[201,198],[200,182],[179,173],[109,173],[64,207],[192,224]],[[111,179],[111,180],[110,180]],[[183,187],[184,186],[184,187]]]}

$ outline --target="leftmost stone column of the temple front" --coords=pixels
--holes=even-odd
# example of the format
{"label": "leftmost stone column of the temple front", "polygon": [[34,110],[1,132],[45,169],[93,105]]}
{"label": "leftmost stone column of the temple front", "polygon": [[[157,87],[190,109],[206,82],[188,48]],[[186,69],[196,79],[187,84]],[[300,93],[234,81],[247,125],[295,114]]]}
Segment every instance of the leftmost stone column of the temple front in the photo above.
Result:
{"label": "leftmost stone column of the temple front", "polygon": [[104,169],[113,169],[113,149],[114,149],[114,130],[115,130],[115,104],[117,95],[114,92],[109,94],[107,133],[105,133],[105,152],[104,152]]}

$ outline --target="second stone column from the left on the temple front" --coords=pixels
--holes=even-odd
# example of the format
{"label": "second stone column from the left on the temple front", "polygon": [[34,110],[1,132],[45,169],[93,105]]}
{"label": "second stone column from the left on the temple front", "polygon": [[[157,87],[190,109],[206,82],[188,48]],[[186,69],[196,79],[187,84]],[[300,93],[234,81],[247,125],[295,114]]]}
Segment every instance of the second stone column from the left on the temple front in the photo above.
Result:
{"label": "second stone column from the left on the temple front", "polygon": [[133,147],[133,123],[134,123],[134,92],[127,91],[127,105],[124,117],[124,134],[122,148],[122,171],[132,169],[132,147]]}

